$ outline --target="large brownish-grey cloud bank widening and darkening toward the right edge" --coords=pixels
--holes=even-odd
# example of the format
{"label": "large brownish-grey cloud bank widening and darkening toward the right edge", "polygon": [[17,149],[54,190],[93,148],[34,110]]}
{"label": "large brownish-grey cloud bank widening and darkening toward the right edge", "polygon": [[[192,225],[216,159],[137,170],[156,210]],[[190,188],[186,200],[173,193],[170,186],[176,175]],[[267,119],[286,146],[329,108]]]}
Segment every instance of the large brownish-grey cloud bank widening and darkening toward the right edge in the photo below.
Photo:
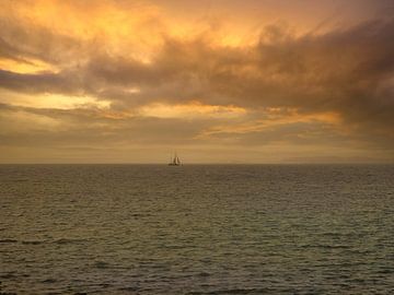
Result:
{"label": "large brownish-grey cloud bank widening and darkening toward the right edge", "polygon": [[[31,90],[37,85],[38,91],[50,91],[50,85],[59,92],[83,88],[124,104],[134,104],[134,99],[141,103],[199,99],[245,107],[332,110],[355,122],[363,119],[392,122],[393,24],[373,21],[302,37],[280,27],[268,27],[257,46],[235,49],[213,47],[204,37],[195,42],[167,39],[148,64],[96,55],[74,71],[4,76],[2,84]],[[129,87],[139,87],[141,92],[130,94]]]}

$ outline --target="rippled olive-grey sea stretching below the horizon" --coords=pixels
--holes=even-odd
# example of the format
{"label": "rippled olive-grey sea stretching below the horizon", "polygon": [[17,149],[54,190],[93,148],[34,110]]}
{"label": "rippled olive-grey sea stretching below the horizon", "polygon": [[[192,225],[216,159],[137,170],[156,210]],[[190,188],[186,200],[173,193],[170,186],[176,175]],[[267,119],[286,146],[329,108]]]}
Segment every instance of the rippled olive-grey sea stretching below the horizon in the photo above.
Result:
{"label": "rippled olive-grey sea stretching below the horizon", "polygon": [[0,293],[394,294],[393,165],[1,165]]}

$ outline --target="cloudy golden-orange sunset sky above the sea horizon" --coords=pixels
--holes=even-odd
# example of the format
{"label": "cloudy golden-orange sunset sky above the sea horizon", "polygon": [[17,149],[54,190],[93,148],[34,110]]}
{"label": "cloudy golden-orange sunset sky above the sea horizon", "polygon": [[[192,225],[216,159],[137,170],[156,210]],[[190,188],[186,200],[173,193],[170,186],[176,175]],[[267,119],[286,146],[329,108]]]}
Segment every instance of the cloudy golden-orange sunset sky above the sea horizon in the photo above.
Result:
{"label": "cloudy golden-orange sunset sky above the sea horizon", "polygon": [[0,163],[394,163],[393,1],[0,1]]}

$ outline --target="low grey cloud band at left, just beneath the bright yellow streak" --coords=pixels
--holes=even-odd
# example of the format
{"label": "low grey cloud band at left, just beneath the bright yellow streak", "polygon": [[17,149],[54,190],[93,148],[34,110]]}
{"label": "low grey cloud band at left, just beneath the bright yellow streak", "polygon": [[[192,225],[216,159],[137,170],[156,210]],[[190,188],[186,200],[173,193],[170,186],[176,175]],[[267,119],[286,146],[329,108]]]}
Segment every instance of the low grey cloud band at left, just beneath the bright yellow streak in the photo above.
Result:
{"label": "low grey cloud band at left, just beneath the bright yellow streak", "polygon": [[[10,116],[19,114],[38,115],[61,123],[58,129],[43,128],[39,125],[28,126],[26,130],[9,132],[13,121]],[[4,116],[10,115],[10,116]],[[18,122],[16,122],[18,123]],[[118,146],[129,144],[160,144],[171,138],[171,144],[192,144],[201,129],[208,128],[211,122],[206,120],[185,121],[175,118],[146,118],[130,116],[121,119],[111,118],[94,109],[54,109],[19,107],[0,104],[1,145],[9,146]]]}

